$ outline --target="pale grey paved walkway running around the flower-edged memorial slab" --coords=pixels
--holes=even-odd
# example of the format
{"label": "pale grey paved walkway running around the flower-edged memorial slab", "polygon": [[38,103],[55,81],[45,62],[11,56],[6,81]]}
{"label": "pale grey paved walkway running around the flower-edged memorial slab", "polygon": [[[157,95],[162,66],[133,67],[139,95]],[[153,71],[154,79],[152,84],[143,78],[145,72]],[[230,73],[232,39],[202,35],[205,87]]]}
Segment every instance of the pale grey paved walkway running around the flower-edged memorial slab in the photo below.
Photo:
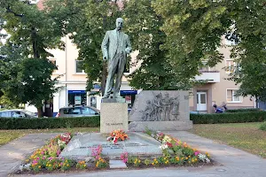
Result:
{"label": "pale grey paved walkway running around the flower-edged memorial slab", "polygon": [[[213,142],[198,135],[193,135],[184,131],[165,132],[173,135],[177,139],[187,142],[193,148],[207,151],[218,165],[204,167],[168,167],[162,169],[145,170],[112,170],[91,173],[54,173],[32,175],[35,177],[85,177],[85,176],[182,176],[182,177],[265,177],[266,159],[259,158],[243,150],[237,150],[227,145]],[[6,176],[12,167],[20,164],[20,160],[36,147],[43,145],[43,140],[54,136],[54,134],[26,135],[19,140],[10,142],[0,147],[1,166],[0,176]],[[23,175],[16,175],[23,176]],[[24,175],[31,176],[31,175]]]}

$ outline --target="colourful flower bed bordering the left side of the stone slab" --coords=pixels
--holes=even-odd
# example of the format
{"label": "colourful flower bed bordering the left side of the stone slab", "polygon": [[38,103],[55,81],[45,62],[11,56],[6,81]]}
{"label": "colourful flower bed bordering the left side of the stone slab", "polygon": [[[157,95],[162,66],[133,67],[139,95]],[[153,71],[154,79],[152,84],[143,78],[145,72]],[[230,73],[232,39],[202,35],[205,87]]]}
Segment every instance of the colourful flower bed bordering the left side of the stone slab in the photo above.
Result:
{"label": "colourful flower bed bordering the left side of the stone slab", "polygon": [[70,141],[72,135],[65,133],[57,135],[52,138],[50,142],[44,145],[42,148],[35,150],[35,152],[29,156],[20,169],[15,173],[50,173],[50,172],[66,172],[76,170],[96,170],[99,168],[106,168],[108,161],[102,158],[102,147],[92,150],[91,156],[95,159],[91,161],[75,161],[73,159],[61,158],[59,154],[66,147],[66,144]]}

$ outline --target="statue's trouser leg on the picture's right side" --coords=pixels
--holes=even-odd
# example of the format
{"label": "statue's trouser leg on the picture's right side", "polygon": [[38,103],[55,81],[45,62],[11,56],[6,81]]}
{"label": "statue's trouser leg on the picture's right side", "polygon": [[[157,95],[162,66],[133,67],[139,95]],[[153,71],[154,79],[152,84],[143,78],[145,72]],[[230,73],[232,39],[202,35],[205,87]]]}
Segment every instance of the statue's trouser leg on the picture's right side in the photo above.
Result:
{"label": "statue's trouser leg on the picture's right side", "polygon": [[118,63],[118,71],[117,71],[117,76],[116,76],[116,81],[115,81],[115,85],[114,85],[114,91],[113,91],[113,96],[114,97],[121,97],[119,96],[119,90],[121,87],[121,78],[123,76],[124,73],[124,67],[126,65],[126,59],[123,58],[122,56],[119,56],[119,63]]}

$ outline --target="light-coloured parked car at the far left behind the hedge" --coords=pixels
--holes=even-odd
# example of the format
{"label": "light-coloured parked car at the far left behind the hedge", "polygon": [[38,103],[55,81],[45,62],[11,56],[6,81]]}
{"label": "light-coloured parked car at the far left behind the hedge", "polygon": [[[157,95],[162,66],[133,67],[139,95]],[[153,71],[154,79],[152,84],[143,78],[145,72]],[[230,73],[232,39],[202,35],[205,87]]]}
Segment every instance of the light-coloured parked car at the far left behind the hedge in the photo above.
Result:
{"label": "light-coloured parked car at the far left behind the hedge", "polygon": [[4,110],[0,111],[0,118],[37,118],[34,112],[26,110]]}

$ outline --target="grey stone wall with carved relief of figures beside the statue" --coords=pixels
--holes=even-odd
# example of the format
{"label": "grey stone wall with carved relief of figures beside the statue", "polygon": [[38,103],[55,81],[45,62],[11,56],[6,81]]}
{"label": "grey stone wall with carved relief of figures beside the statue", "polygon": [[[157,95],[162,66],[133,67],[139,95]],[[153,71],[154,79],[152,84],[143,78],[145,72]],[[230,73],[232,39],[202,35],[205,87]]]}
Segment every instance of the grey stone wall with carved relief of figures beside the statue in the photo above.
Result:
{"label": "grey stone wall with carved relief of figures beside the statue", "polygon": [[188,91],[145,90],[129,113],[129,130],[187,130],[192,128]]}

